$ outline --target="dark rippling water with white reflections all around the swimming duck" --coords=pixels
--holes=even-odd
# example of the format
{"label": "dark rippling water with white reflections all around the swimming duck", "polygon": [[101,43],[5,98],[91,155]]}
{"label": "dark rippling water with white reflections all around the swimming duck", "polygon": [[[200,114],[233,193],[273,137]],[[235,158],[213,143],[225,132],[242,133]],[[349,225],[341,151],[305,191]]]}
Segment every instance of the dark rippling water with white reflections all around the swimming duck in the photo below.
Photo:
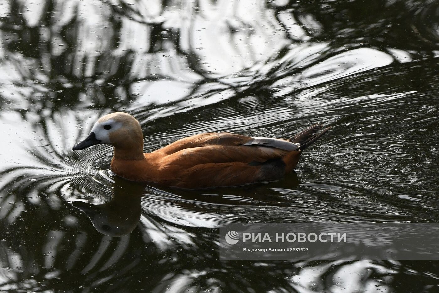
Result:
{"label": "dark rippling water with white reflections all around the swimming duck", "polygon": [[[439,221],[436,1],[0,4],[0,291],[437,291],[436,261],[216,250],[227,223]],[[282,180],[184,191],[119,179],[108,146],[71,151],[113,111],[146,152],[332,129]]]}

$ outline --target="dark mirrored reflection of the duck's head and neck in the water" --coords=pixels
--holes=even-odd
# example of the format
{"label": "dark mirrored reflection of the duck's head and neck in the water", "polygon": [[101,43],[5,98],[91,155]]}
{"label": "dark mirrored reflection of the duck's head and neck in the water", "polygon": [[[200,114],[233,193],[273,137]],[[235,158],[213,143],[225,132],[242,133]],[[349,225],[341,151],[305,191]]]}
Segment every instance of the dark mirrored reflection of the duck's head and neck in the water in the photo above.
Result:
{"label": "dark mirrored reflection of the duck's head and neck in the water", "polygon": [[120,237],[129,234],[139,223],[143,191],[144,186],[118,178],[112,200],[99,205],[76,200],[72,205],[90,217],[98,232]]}

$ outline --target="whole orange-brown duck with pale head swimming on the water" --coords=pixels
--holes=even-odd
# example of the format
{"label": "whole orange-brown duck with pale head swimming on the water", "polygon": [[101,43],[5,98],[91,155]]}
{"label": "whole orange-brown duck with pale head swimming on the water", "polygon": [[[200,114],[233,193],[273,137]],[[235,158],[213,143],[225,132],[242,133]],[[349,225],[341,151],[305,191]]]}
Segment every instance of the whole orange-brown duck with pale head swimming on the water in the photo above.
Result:
{"label": "whole orange-brown duck with pale head swimming on the water", "polygon": [[316,124],[291,139],[209,132],[181,138],[144,153],[139,121],[125,112],[102,116],[73,151],[114,147],[110,168],[130,181],[201,189],[276,181],[293,172],[302,152],[331,127]]}

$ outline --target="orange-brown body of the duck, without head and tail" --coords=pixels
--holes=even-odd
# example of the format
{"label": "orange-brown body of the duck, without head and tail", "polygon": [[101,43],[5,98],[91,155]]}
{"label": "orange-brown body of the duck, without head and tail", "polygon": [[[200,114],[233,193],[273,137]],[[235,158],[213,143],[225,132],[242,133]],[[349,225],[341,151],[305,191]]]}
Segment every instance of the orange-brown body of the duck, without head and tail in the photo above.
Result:
{"label": "orange-brown body of the duck, without head and tail", "polygon": [[[297,165],[300,150],[288,152],[241,145],[251,139],[229,133],[198,134],[145,153],[142,159],[119,158],[115,154],[111,169],[129,180],[180,188],[206,188],[272,181],[291,172]],[[282,159],[284,168],[274,170],[276,166],[273,165],[270,170],[270,166],[267,168],[263,164],[270,159]]]}

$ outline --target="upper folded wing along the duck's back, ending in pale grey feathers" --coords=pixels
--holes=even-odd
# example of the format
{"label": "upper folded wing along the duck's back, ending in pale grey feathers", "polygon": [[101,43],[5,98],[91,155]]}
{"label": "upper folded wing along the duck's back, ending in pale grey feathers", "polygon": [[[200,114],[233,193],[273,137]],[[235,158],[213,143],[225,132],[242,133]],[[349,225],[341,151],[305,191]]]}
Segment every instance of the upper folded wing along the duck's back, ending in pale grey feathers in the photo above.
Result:
{"label": "upper folded wing along the duck's back, ending in pale grey feathers", "polygon": [[165,155],[171,155],[187,148],[199,148],[209,146],[233,147],[246,145],[250,147],[277,148],[283,151],[294,151],[299,148],[300,144],[292,143],[279,138],[268,137],[249,137],[240,134],[227,132],[221,133],[203,133],[190,137],[182,138],[156,152],[162,152]]}

